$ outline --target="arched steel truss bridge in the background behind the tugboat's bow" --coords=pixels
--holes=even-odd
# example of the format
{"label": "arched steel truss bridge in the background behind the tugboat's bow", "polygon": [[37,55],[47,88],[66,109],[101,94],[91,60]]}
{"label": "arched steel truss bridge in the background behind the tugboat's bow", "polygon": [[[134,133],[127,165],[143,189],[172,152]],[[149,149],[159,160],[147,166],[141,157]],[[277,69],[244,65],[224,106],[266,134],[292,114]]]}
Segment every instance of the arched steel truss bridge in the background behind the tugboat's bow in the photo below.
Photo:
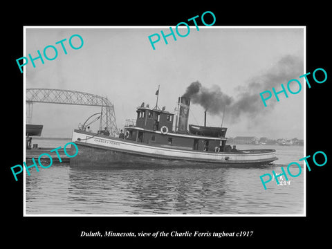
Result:
{"label": "arched steel truss bridge in the background behind the tugboat's bow", "polygon": [[27,123],[31,122],[34,102],[101,107],[100,129],[107,127],[111,134],[118,132],[114,106],[102,96],[61,89],[26,89]]}

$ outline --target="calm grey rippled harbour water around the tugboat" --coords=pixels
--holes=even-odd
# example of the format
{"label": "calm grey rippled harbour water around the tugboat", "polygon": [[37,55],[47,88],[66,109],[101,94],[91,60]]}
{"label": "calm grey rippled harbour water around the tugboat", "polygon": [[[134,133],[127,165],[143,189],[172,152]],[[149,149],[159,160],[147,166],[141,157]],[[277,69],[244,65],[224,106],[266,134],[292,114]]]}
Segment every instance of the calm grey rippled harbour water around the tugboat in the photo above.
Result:
{"label": "calm grey rippled harbour water around the tugboat", "polygon": [[[64,146],[69,140],[34,140],[39,147]],[[138,167],[73,169],[56,163],[26,176],[26,214],[303,214],[304,170],[277,185],[262,174],[298,161],[304,147],[271,148],[279,160],[265,167]],[[286,169],[286,168],[285,168]],[[293,174],[298,169],[293,169]]]}

